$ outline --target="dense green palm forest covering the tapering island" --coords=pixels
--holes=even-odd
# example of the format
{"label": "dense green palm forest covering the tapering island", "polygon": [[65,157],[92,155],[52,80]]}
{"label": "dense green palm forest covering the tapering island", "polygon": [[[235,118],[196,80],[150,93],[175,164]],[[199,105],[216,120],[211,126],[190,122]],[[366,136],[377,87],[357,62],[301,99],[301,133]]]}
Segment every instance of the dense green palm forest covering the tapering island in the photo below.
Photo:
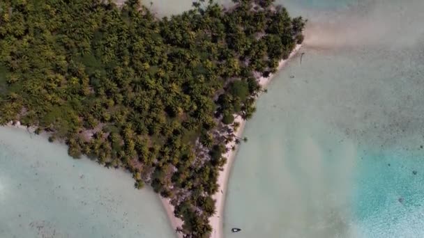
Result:
{"label": "dense green palm forest covering the tapering island", "polygon": [[234,115],[255,111],[305,21],[272,0],[199,1],[158,19],[128,0],[0,1],[0,122],[126,168],[171,198],[185,237],[209,237]]}

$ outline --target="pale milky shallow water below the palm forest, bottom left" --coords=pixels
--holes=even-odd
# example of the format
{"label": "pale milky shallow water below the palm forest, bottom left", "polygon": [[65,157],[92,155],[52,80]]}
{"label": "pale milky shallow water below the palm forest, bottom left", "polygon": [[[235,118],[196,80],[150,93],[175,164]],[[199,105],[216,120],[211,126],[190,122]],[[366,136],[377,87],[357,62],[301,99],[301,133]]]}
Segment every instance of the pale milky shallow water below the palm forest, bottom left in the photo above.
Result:
{"label": "pale milky shallow water below the palm forest, bottom left", "polygon": [[64,145],[0,127],[0,237],[174,237],[158,197]]}

